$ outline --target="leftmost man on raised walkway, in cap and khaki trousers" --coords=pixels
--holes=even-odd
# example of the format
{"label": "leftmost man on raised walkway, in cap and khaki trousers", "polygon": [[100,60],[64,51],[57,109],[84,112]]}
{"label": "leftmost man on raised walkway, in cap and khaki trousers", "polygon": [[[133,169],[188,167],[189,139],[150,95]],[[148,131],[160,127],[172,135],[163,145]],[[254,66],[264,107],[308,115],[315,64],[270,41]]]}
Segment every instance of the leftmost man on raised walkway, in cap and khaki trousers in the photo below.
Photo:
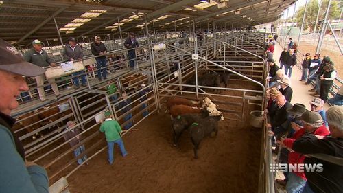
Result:
{"label": "leftmost man on raised walkway, in cap and khaki trousers", "polygon": [[[47,52],[45,52],[45,50],[43,49],[42,42],[39,40],[32,41],[32,49],[29,49],[27,52],[25,52],[24,59],[29,63],[37,65],[38,67],[55,66],[55,63],[53,63],[51,58],[47,55]],[[45,101],[47,100],[45,98],[45,91],[43,87],[45,75],[42,74],[40,76],[36,76],[35,78],[37,82],[37,91],[39,98],[41,101]],[[60,95],[60,91],[58,91],[55,78],[48,79],[47,82],[51,84],[51,88],[54,91],[55,95]]]}

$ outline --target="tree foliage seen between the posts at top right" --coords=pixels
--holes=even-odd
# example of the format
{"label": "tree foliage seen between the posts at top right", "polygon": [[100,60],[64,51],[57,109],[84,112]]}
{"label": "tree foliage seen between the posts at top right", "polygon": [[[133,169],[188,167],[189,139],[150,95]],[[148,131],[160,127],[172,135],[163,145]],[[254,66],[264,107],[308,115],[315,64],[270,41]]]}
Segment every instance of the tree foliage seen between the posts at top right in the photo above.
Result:
{"label": "tree foliage seen between the posts at top right", "polygon": [[[319,17],[318,17],[318,25],[320,25],[324,20],[325,12],[327,11],[327,5],[329,3],[329,0],[322,1],[322,6],[320,7]],[[328,19],[339,19],[340,18],[340,5],[339,1],[333,0],[331,1],[330,10],[329,10],[329,16]],[[310,32],[314,31],[314,25],[316,25],[316,18],[318,14],[318,8],[319,3],[318,0],[310,0],[307,4],[307,10],[305,15],[305,23],[303,26],[303,30],[309,28]],[[300,7],[298,11],[296,12],[296,22],[298,22],[299,26],[301,25],[303,21],[303,14],[305,10],[305,5]],[[317,30],[320,28],[320,26],[317,25]]]}

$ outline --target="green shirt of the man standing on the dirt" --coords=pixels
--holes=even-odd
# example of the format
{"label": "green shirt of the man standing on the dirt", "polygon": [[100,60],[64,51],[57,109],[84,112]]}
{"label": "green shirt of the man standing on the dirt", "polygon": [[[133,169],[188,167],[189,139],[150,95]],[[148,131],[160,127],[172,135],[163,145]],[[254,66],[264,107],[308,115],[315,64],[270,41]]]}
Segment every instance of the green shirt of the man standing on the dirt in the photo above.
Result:
{"label": "green shirt of the man standing on the dirt", "polygon": [[106,119],[100,126],[100,131],[105,132],[106,141],[115,141],[121,138],[121,127],[116,120]]}

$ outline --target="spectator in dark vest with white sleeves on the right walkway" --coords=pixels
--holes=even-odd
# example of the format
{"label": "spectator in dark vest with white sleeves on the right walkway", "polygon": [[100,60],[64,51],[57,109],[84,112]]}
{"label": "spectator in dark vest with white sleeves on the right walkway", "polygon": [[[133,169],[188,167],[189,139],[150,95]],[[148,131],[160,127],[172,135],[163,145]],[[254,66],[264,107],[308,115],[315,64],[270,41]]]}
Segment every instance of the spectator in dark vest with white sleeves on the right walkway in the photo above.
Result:
{"label": "spectator in dark vest with white sleeves on the right walkway", "polygon": [[327,65],[324,67],[324,73],[320,76],[320,98],[327,101],[330,88],[333,84],[333,80],[335,80],[337,76],[337,71],[333,65]]}

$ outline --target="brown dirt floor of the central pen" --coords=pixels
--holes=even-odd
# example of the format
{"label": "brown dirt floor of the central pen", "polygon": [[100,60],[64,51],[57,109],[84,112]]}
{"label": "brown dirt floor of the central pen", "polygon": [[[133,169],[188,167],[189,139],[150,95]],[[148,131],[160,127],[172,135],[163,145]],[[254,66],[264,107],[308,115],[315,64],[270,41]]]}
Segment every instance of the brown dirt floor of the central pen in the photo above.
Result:
{"label": "brown dirt floor of the central pen", "polygon": [[248,126],[248,120],[221,121],[217,137],[200,144],[197,160],[188,132],[180,138],[180,148],[172,146],[170,118],[164,111],[148,117],[123,139],[127,157],[115,147],[115,163],[109,165],[104,150],[68,178],[70,191],[257,192],[261,130]]}

